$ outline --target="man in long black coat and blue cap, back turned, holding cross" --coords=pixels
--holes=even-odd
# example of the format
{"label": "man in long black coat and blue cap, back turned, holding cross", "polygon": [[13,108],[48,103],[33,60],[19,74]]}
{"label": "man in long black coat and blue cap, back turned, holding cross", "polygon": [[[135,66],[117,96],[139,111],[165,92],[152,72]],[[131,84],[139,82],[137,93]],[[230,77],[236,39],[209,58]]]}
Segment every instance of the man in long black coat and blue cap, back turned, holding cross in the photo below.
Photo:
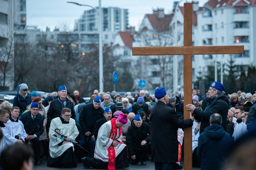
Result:
{"label": "man in long black coat and blue cap, back turned, holding cross", "polygon": [[152,108],[151,120],[151,154],[156,169],[172,169],[178,161],[178,128],[192,127],[194,118],[182,120],[174,110],[167,106],[168,95],[164,88],[155,91],[158,102]]}

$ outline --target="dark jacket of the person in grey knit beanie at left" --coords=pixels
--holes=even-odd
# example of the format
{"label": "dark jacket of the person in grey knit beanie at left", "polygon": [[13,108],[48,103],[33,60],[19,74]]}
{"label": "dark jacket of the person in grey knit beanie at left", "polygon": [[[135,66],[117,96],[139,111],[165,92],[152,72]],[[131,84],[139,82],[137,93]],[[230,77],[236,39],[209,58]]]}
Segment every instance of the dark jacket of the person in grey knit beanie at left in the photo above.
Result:
{"label": "dark jacket of the person in grey knit beanie at left", "polygon": [[29,94],[27,94],[26,98],[24,99],[19,93],[14,97],[13,99],[13,107],[19,107],[19,116],[21,116],[21,114],[23,112],[25,112],[25,110],[27,110],[27,106],[30,105],[32,102],[31,100],[31,96]]}

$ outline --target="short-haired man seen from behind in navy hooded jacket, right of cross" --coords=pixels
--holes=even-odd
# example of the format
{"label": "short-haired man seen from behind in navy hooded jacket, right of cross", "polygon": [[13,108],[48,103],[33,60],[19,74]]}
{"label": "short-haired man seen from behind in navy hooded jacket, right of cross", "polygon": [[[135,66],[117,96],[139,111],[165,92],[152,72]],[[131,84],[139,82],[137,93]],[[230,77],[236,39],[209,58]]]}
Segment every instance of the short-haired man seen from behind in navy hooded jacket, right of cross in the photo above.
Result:
{"label": "short-haired man seen from behind in navy hooded jacket, right of cross", "polygon": [[210,116],[210,126],[198,138],[196,155],[201,162],[201,170],[220,170],[232,141],[230,135],[221,126],[222,116],[218,113]]}

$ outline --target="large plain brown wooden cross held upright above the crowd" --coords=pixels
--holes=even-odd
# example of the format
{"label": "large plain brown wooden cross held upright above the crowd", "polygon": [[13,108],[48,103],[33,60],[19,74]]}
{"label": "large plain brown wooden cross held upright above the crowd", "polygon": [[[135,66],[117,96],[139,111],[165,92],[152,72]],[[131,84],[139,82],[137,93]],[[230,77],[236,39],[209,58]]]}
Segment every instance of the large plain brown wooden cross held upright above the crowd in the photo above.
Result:
{"label": "large plain brown wooden cross held upright above the crowd", "polygon": [[[177,29],[177,28],[175,28]],[[187,104],[192,104],[193,54],[242,54],[244,46],[192,46],[192,3],[184,3],[184,46],[133,47],[133,55],[184,56],[184,119],[189,119]],[[192,170],[192,128],[184,129],[184,169]],[[161,144],[159,144],[161,145]]]}

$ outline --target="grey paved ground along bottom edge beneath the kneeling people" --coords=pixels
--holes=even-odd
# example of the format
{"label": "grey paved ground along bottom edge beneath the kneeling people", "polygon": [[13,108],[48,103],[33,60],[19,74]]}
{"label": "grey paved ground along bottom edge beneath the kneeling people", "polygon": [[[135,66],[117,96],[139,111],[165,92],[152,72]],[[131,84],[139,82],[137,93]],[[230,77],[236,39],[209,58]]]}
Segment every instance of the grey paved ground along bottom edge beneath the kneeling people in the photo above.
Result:
{"label": "grey paved ground along bottom edge beneath the kneeling people", "polygon": [[[137,165],[129,165],[130,167],[129,168],[126,168],[126,169],[134,169],[134,170],[137,170],[137,169],[147,169],[147,170],[154,170],[155,169],[155,164],[153,162],[151,162],[150,160],[146,161],[147,165],[141,165],[140,162],[139,164]],[[43,160],[42,162],[42,165],[39,165],[39,166],[34,166],[34,169],[35,170],[70,170],[70,169],[76,169],[76,170],[84,170],[84,167],[83,167],[83,163],[82,162],[79,162],[77,164],[77,167],[76,168],[49,168],[46,166],[47,164],[47,161],[46,160]],[[181,166],[183,166],[184,162],[183,160],[181,161]],[[92,168],[91,168],[92,169]],[[97,169],[93,169],[93,170],[97,170]],[[200,170],[200,168],[193,168],[193,170]]]}

